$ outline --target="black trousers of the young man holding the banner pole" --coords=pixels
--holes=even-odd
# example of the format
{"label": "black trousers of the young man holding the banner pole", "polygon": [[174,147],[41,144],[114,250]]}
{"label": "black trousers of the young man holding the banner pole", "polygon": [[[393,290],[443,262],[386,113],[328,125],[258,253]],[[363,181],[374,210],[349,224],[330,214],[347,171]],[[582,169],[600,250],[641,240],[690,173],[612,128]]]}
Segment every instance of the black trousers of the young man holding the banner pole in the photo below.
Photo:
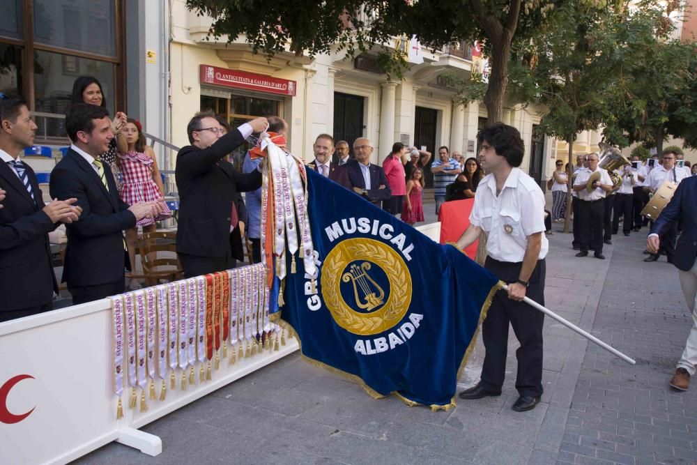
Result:
{"label": "black trousers of the young man holding the banner pole", "polygon": [[[484,267],[507,283],[516,282],[522,263],[510,263],[487,257]],[[544,259],[530,276],[530,287],[526,296],[544,305]],[[506,291],[498,291],[494,296],[487,318],[482,323],[482,337],[487,353],[482,367],[482,385],[491,392],[501,392],[506,373],[508,354],[508,326],[521,346],[516,350],[518,370],[516,389],[520,395],[537,397],[542,395],[542,326],[544,313],[523,302],[508,298]]]}

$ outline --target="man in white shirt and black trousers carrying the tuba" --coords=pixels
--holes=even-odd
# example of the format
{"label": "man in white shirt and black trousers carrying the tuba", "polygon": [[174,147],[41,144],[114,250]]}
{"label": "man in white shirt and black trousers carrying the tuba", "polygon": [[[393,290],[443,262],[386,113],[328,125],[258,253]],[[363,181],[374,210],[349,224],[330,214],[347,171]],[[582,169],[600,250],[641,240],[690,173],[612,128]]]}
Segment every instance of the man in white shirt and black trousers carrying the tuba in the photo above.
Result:
{"label": "man in white shirt and black trousers carrying the tuba", "polygon": [[[608,172],[598,167],[598,154],[587,155],[588,169],[576,172],[574,190],[579,193],[579,224],[581,226],[581,252],[576,257],[587,257],[592,243],[595,246],[593,255],[604,260],[603,255],[603,220],[605,216],[605,196],[613,188]],[[599,173],[599,178],[588,192],[586,185],[593,173]],[[592,238],[591,238],[592,231]]]}

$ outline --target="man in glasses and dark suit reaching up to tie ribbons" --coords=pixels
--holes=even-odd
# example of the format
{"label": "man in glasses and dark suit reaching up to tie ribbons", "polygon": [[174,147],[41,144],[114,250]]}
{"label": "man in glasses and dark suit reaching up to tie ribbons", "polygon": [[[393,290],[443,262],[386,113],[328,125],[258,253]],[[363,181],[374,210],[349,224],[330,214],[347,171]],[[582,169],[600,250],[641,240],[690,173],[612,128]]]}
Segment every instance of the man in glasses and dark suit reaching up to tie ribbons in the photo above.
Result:
{"label": "man in glasses and dark suit reaching up to tie ribbons", "polygon": [[244,259],[236,201],[238,192],[261,187],[261,171],[240,174],[224,157],[267,127],[266,118],[256,118],[223,135],[215,115],[208,113],[196,114],[187,125],[191,145],[177,154],[175,171],[176,250],[187,277],[234,268],[235,259]]}

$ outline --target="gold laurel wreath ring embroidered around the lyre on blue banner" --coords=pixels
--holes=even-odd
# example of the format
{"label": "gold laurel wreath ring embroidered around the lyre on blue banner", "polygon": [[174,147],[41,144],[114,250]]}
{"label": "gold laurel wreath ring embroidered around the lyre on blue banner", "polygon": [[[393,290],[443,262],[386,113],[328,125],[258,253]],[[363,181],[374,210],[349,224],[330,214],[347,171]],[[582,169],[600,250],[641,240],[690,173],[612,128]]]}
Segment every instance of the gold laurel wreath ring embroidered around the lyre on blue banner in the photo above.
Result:
{"label": "gold laurel wreath ring embroidered around the lyre on blue banner", "polygon": [[[389,305],[385,308],[383,316],[369,316],[354,312],[351,307],[344,303],[339,296],[339,286],[335,284],[339,280],[339,274],[346,266],[346,262],[342,259],[341,250],[330,257],[323,267],[325,278],[332,283],[332,285],[323,286],[325,304],[340,326],[346,330],[352,333],[371,334],[376,328],[383,326],[386,321],[392,321],[404,315],[406,307],[409,305],[408,301],[411,300],[411,292],[409,292],[411,280],[407,279],[404,264],[401,264],[398,259],[381,247],[372,244],[348,245],[346,251],[351,253],[352,259],[370,259],[383,268],[388,275],[391,287]],[[395,321],[395,323],[397,322]],[[395,323],[390,324],[388,328],[394,326]]]}

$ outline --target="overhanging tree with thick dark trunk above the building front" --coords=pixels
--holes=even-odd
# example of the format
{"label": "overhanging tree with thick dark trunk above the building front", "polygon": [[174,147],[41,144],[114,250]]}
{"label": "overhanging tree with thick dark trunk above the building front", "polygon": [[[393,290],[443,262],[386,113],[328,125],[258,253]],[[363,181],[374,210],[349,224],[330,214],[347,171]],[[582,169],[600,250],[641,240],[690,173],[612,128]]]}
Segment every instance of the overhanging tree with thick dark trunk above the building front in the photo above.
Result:
{"label": "overhanging tree with thick dark trunk above the building front", "polygon": [[[491,76],[484,93],[489,121],[500,121],[508,84],[514,38],[528,38],[546,16],[567,0],[187,0],[197,14],[213,18],[213,37],[236,40],[245,34],[254,52],[301,55],[330,51],[348,56],[377,49],[388,74],[401,75],[404,56],[388,44],[395,36],[415,34],[434,49],[460,40],[482,40]],[[603,3],[606,0],[585,0]],[[475,86],[476,87],[476,86]],[[482,90],[481,86],[477,91]],[[467,94],[472,98],[471,94]],[[479,94],[477,94],[479,95]]]}

